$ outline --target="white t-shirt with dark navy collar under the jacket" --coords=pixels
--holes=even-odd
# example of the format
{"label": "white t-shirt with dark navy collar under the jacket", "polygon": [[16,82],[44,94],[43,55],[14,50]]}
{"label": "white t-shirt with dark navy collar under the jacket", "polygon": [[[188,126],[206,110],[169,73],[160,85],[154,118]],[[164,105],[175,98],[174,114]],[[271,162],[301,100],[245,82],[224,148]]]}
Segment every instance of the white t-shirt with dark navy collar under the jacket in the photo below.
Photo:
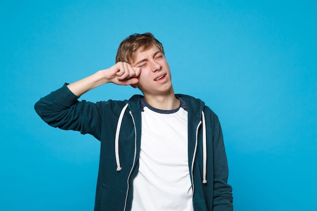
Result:
{"label": "white t-shirt with dark navy collar under the jacket", "polygon": [[185,102],[168,111],[144,99],[141,105],[140,166],[133,181],[132,211],[193,211]]}

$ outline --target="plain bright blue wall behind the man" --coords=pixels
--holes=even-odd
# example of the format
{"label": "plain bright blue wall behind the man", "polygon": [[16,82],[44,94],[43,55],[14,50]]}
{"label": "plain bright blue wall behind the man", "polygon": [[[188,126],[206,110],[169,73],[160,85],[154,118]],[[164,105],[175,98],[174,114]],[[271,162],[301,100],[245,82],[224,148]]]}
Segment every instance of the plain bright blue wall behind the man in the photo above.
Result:
{"label": "plain bright blue wall behind the man", "polygon": [[[92,210],[99,142],[34,103],[150,31],[176,93],[219,116],[234,209],[317,210],[315,1],[0,1],[0,210]],[[107,85],[81,99],[139,93]]]}

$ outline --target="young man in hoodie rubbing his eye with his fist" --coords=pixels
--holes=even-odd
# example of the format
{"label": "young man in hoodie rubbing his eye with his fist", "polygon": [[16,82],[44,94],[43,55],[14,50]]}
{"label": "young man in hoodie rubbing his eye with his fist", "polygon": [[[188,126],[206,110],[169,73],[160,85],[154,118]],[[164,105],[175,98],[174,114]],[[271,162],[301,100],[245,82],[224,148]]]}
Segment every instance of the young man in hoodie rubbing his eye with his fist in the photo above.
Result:
{"label": "young man in hoodie rubbing his eye with his fist", "polygon": [[[110,82],[144,96],[77,101]],[[115,65],[64,85],[35,110],[51,126],[101,141],[95,210],[233,209],[218,117],[201,100],[174,94],[163,46],[151,33],[127,37]]]}

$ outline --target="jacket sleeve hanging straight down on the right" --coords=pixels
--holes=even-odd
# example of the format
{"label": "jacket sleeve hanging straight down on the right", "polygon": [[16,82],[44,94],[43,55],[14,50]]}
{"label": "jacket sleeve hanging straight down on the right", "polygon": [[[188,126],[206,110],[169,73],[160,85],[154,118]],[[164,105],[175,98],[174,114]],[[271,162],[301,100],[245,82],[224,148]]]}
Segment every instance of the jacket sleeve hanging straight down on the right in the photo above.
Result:
{"label": "jacket sleeve hanging straight down on the right", "polygon": [[[211,111],[211,110],[210,110]],[[218,116],[211,111],[213,128],[214,201],[213,211],[232,211],[232,188],[228,181],[228,164]]]}

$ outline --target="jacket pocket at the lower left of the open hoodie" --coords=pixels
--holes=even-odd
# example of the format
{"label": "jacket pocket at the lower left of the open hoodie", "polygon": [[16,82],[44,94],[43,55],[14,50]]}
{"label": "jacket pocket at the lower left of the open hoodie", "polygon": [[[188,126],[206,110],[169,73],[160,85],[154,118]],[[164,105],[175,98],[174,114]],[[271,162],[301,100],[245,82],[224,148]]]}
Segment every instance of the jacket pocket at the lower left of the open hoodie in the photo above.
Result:
{"label": "jacket pocket at the lower left of the open hoodie", "polygon": [[123,211],[127,191],[102,184],[96,196],[95,211]]}

